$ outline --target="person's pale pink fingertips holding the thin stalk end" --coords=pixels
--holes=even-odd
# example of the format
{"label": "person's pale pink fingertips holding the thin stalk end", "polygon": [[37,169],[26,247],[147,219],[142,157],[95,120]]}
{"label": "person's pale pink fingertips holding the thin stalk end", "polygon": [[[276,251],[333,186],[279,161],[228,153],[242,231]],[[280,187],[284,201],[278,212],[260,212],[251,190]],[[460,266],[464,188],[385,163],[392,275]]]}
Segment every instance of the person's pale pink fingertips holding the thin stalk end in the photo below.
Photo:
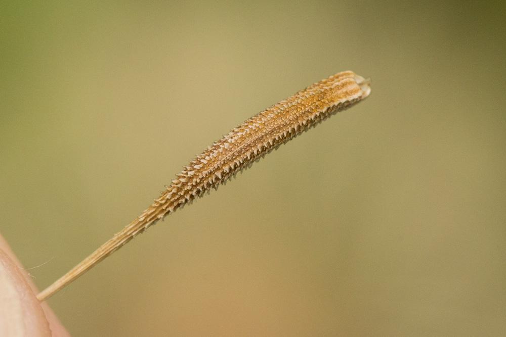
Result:
{"label": "person's pale pink fingertips holding the thin stalk end", "polygon": [[70,336],[0,235],[0,336]]}

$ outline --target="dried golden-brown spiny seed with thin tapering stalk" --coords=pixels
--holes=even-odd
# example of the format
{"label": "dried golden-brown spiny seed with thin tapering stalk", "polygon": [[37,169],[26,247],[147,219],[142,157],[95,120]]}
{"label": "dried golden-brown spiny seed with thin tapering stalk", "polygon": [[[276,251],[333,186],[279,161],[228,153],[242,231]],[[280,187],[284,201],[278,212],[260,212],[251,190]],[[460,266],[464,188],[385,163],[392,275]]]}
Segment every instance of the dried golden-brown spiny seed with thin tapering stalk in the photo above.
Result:
{"label": "dried golden-brown spiny seed with thin tapering stalk", "polygon": [[46,300],[159,219],[217,188],[282,143],[365,99],[369,84],[352,71],[337,73],[249,118],[207,147],[141,215],[37,298]]}

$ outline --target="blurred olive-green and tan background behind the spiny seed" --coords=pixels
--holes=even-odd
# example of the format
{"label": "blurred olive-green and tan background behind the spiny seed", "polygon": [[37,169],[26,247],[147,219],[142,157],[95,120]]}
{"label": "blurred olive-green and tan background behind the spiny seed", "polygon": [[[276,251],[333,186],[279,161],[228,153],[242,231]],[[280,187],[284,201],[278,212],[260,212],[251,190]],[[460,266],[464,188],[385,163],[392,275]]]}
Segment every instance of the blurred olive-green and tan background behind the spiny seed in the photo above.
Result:
{"label": "blurred olive-green and tan background behind the spiny seed", "polygon": [[49,300],[75,336],[506,334],[504,2],[2,2],[0,231],[44,288],[206,145],[372,94]]}

